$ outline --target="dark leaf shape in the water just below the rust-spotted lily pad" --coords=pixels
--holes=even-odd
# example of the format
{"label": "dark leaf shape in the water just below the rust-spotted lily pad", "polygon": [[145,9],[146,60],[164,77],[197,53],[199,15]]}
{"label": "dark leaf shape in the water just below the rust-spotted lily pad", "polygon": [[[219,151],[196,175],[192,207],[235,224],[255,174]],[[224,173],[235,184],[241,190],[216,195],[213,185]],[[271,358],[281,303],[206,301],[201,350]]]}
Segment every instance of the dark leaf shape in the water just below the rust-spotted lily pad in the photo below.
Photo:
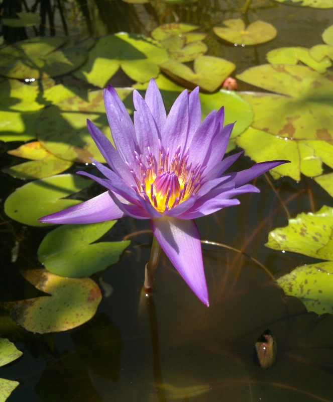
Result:
{"label": "dark leaf shape in the water just below the rust-spotted lily pad", "polygon": [[107,381],[119,378],[122,336],[105,313],[97,313],[88,323],[70,333],[75,352],[94,375]]}

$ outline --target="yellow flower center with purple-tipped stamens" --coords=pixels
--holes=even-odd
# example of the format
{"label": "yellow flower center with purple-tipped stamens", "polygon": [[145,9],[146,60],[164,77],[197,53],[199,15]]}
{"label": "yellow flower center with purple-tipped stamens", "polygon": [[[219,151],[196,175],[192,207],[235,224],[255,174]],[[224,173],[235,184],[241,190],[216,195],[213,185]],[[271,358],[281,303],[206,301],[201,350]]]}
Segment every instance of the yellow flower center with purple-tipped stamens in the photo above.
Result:
{"label": "yellow flower center with purple-tipped stamens", "polygon": [[202,173],[206,166],[201,167],[199,163],[194,166],[192,163],[188,165],[188,148],[182,155],[181,147],[178,145],[173,158],[169,161],[169,148],[165,152],[159,140],[159,160],[154,158],[149,147],[146,160],[143,156],[135,152],[140,177],[126,162],[137,183],[136,186],[131,187],[160,213],[176,207],[185,199],[195,195],[206,181],[202,180]]}

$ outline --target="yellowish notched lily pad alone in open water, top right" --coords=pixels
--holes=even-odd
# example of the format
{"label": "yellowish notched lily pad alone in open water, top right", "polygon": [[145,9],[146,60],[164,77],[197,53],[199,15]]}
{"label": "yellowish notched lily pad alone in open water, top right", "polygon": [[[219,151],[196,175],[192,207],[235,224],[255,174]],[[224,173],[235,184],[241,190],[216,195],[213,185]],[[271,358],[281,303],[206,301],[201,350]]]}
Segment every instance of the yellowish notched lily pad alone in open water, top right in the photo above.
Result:
{"label": "yellowish notched lily pad alone in open water, top right", "polygon": [[264,21],[255,21],[245,28],[243,20],[226,20],[223,23],[228,28],[214,27],[214,34],[227,42],[239,45],[258,45],[274,39],[277,30]]}

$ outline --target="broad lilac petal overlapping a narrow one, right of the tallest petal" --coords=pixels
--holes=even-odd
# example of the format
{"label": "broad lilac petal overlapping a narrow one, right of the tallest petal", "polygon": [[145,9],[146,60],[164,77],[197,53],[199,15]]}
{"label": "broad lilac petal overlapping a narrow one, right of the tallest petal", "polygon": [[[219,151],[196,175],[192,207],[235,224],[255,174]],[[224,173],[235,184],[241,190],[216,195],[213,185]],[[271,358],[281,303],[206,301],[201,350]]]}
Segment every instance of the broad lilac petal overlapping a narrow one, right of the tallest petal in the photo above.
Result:
{"label": "broad lilac petal overlapping a narrow one, right of the tallest petal", "polygon": [[172,105],[162,132],[162,146],[165,151],[169,148],[169,164],[174,157],[178,145],[184,152],[188,128],[188,95],[187,89],[177,97]]}

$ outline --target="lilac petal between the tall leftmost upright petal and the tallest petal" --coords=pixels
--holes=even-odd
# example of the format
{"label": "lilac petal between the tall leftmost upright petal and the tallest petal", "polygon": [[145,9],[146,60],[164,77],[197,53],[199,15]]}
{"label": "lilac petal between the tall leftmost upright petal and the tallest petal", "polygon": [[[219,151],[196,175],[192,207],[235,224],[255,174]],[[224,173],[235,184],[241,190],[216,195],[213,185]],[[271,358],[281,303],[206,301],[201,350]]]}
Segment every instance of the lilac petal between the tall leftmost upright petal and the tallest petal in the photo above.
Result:
{"label": "lilac petal between the tall leftmost upright petal and the tallest petal", "polygon": [[[158,133],[155,121],[146,102],[137,90],[133,92],[133,103],[136,109],[136,112],[134,112],[134,127],[140,151],[144,156],[148,156],[148,147],[150,147],[152,154],[158,157]],[[158,159],[156,162],[158,162]],[[145,158],[143,164],[146,164]]]}

